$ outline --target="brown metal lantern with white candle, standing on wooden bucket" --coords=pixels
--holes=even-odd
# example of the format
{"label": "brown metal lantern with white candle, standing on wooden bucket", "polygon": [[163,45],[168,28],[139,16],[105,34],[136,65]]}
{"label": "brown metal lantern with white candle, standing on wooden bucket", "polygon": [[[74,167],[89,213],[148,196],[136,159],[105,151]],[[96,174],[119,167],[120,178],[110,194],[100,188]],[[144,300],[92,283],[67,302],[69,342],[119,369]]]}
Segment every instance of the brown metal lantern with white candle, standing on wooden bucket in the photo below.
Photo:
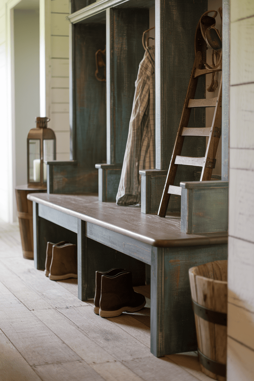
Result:
{"label": "brown metal lantern with white candle, standing on wooden bucket", "polygon": [[47,128],[50,118],[35,118],[36,128],[27,136],[27,185],[30,188],[46,188],[47,161],[56,160],[56,136]]}

